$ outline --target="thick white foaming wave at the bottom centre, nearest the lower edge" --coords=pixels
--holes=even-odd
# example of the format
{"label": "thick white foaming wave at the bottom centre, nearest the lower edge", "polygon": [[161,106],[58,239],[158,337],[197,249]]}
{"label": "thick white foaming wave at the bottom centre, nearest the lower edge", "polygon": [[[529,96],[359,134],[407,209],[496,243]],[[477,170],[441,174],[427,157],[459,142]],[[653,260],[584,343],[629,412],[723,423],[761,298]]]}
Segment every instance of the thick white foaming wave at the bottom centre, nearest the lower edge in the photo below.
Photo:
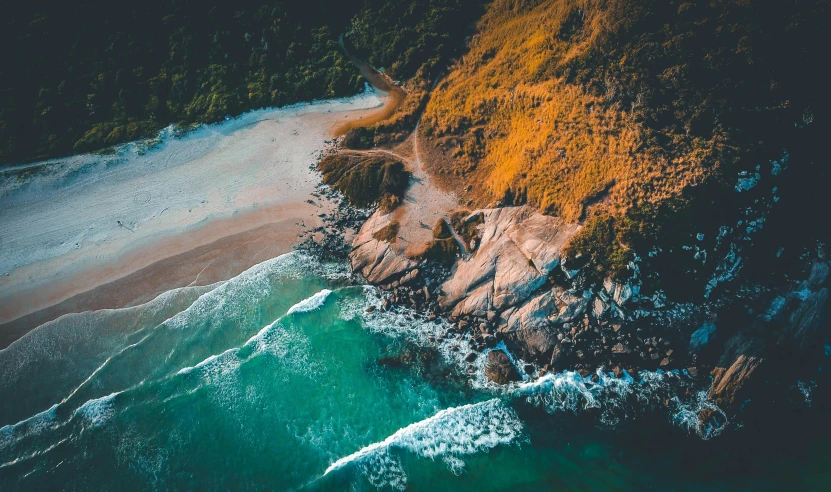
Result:
{"label": "thick white foaming wave at the bottom centre, nearest the lower edge", "polygon": [[[522,435],[523,428],[516,412],[498,398],[448,408],[399,429],[383,441],[340,458],[326,469],[324,475],[350,463],[362,463],[367,465],[366,471],[376,478],[390,471],[398,477],[395,472],[400,465],[388,454],[392,448],[405,449],[424,458],[446,459],[458,468],[459,456],[514,442]],[[375,479],[368,478],[375,483]],[[398,480],[388,485],[398,487],[403,484]]]}

